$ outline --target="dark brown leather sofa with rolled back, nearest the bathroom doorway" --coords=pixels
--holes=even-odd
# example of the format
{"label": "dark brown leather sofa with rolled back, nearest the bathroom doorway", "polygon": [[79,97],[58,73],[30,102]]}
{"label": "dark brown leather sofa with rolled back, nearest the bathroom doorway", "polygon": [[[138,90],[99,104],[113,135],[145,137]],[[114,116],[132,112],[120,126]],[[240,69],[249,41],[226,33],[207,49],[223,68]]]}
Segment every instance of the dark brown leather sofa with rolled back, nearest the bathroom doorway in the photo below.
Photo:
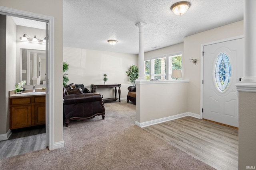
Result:
{"label": "dark brown leather sofa with rolled back, nearest the bathroom doorway", "polygon": [[95,116],[105,119],[105,107],[100,93],[68,94],[63,86],[63,114],[65,124],[70,120],[86,120]]}

